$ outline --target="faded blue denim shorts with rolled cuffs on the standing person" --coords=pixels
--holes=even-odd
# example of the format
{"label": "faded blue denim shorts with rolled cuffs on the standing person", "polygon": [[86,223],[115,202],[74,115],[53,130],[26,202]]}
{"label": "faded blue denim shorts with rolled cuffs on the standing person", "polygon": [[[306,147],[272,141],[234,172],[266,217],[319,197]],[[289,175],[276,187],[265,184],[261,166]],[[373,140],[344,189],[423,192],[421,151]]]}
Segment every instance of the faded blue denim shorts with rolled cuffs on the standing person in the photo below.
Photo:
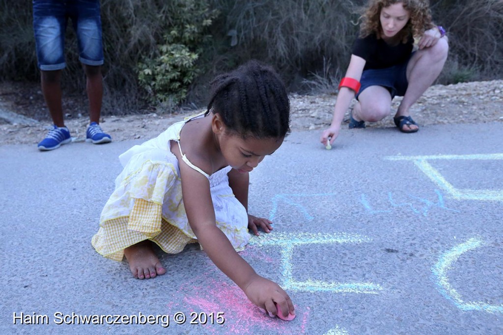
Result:
{"label": "faded blue denim shorts with rolled cuffs on the standing person", "polygon": [[87,65],[103,64],[99,0],[33,0],[33,30],[41,70],[66,66],[64,37],[68,18],[77,35],[78,60]]}

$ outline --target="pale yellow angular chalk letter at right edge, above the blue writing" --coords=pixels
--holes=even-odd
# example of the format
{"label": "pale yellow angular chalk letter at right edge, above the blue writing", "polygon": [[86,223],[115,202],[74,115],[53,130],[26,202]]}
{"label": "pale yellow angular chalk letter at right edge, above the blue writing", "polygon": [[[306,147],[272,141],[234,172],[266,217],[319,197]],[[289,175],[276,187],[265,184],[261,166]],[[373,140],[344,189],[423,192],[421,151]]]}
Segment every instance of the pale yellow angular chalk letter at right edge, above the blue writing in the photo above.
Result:
{"label": "pale yellow angular chalk letter at right edge, above the blue writing", "polygon": [[388,156],[388,160],[411,160],[428,178],[456,200],[503,201],[503,190],[457,189],[436,170],[429,160],[502,160],[503,153],[473,155]]}

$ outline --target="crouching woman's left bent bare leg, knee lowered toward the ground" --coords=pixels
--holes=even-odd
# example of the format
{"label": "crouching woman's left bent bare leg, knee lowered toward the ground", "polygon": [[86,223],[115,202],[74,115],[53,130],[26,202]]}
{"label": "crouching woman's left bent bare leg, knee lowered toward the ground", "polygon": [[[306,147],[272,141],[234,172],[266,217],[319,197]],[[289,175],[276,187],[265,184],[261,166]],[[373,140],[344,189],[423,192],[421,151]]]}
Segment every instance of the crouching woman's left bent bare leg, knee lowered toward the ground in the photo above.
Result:
{"label": "crouching woman's left bent bare leg, knee lowered toward the ground", "polygon": [[353,108],[356,121],[377,122],[391,112],[391,95],[382,86],[369,86],[358,95],[358,102]]}

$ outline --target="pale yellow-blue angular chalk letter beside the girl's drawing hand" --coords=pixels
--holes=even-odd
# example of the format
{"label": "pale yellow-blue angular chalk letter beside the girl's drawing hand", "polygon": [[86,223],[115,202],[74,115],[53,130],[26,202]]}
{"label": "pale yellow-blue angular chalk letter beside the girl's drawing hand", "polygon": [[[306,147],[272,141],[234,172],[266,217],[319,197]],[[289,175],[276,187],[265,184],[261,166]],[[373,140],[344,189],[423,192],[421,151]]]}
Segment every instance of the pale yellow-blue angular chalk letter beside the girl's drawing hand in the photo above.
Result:
{"label": "pale yellow-blue angular chalk letter beside the girl's drawing hand", "polygon": [[281,280],[285,290],[303,292],[368,293],[377,294],[382,287],[373,283],[334,283],[317,280],[297,281],[292,274],[293,250],[296,246],[326,243],[362,243],[371,239],[358,234],[272,234],[254,237],[250,244],[281,247]]}

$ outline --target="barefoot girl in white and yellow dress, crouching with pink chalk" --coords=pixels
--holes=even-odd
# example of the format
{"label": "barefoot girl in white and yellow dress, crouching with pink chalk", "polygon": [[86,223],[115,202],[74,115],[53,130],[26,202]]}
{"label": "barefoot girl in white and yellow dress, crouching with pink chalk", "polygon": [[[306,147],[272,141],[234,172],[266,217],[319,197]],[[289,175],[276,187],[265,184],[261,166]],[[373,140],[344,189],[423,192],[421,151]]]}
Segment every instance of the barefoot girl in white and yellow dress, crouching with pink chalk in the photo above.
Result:
{"label": "barefoot girl in white and yellow dress, crouching with pink chalk", "polygon": [[293,318],[288,294],[259,276],[236,251],[248,228],[270,232],[271,221],[247,213],[248,173],[289,133],[290,103],[279,76],[250,61],[217,76],[205,113],[170,126],[119,156],[124,170],[105,205],[92,243],[112,260],[126,257],[135,278],[166,273],[152,243],[180,253],[199,242],[248,299]]}

